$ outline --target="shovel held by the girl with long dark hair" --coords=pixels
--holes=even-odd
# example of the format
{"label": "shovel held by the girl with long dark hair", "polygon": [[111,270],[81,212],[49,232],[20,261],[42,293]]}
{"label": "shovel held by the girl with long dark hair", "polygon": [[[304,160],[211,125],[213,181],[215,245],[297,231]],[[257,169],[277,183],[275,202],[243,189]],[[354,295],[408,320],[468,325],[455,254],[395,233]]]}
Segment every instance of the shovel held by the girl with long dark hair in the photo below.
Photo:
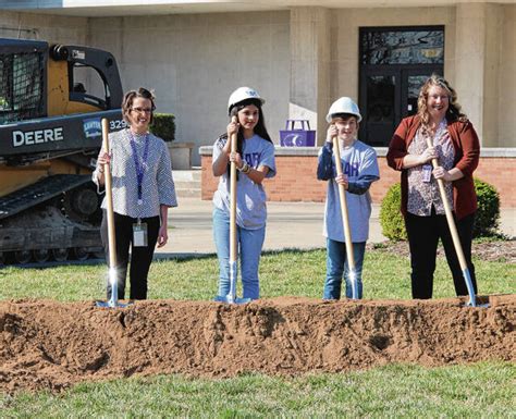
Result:
{"label": "shovel held by the girl with long dark hair", "polygon": [[[236,116],[233,116],[236,122]],[[236,133],[230,137],[231,152],[236,152]],[[236,297],[236,260],[238,248],[236,243],[236,163],[231,162],[230,171],[230,293],[228,295],[218,295],[214,300],[228,304],[245,304],[250,298]]]}

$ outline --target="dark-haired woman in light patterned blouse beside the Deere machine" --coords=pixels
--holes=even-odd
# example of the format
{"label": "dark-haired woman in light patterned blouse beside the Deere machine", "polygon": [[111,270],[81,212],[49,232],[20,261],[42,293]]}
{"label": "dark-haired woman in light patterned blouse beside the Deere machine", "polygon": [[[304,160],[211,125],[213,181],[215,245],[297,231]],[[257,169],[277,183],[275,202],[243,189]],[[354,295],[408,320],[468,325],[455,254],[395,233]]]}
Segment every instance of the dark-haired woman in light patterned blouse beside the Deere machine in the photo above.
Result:
{"label": "dark-haired woman in light patterned blouse beside the Deere machine", "polygon": [[[110,153],[100,150],[93,174],[94,182],[103,185],[103,168],[110,163],[120,299],[125,297],[130,248],[130,299],[147,298],[147,275],[155,247],[167,244],[168,210],[177,206],[167,145],[149,132],[155,109],[155,97],[149,90],[140,87],[125,94],[122,114],[128,127],[109,135]],[[109,261],[106,208],[105,199],[100,233]]]}

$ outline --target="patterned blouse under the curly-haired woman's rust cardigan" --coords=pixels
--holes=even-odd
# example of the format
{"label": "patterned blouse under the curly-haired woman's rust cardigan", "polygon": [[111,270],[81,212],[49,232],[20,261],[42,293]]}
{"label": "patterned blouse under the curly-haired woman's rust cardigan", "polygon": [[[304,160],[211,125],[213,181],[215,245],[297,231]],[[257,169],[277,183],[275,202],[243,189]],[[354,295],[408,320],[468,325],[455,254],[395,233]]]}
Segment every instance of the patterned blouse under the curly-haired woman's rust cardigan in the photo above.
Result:
{"label": "patterned blouse under the curly-haired woman's rust cardigan", "polygon": [[[422,127],[417,131],[414,140],[408,146],[410,155],[421,155],[427,149],[427,136],[423,134]],[[453,169],[453,161],[455,159],[455,150],[453,148],[450,133],[447,132],[446,120],[443,120],[433,136],[433,146],[439,153],[439,164],[446,169]],[[430,164],[430,162],[428,163]],[[444,214],[444,206],[439,193],[439,185],[435,177],[431,177],[430,182],[425,182],[423,165],[416,165],[408,169],[408,202],[407,211],[419,217],[429,217],[432,211],[432,206],[435,208],[435,213]],[[453,209],[453,187],[451,182],[444,182],[444,189],[446,198]]]}

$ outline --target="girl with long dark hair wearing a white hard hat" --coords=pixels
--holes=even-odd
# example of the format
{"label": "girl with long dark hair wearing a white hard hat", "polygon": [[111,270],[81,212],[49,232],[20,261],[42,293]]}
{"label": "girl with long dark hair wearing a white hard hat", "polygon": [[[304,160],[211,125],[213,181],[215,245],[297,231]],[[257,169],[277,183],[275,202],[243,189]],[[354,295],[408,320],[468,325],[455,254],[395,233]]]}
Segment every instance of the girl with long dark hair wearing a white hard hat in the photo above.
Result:
{"label": "girl with long dark hair wearing a white hard hat", "polygon": [[[238,170],[236,231],[241,256],[243,297],[260,296],[258,266],[266,234],[267,206],[262,182],[275,175],[274,145],[267,133],[261,106],[265,100],[249,87],[230,96],[232,122],[213,146],[213,175],[220,176],[213,195],[213,236],[219,257],[219,296],[230,293],[230,163]],[[236,121],[233,118],[236,116]],[[231,152],[231,135],[237,133],[237,151]]]}

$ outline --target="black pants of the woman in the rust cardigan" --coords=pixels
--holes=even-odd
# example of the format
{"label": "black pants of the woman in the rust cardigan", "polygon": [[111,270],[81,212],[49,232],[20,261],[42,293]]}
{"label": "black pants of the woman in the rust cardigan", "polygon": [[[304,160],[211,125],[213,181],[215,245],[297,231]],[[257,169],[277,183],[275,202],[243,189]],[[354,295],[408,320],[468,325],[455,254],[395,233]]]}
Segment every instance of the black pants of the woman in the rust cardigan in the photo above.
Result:
{"label": "black pants of the woman in the rust cardigan", "polygon": [[[471,262],[471,241],[475,213],[455,221],[458,237],[463,246],[464,257],[471,275],[471,282],[477,294],[477,281],[475,278],[475,267]],[[438,242],[441,238],[447,264],[453,275],[455,293],[468,295],[466,281],[458,262],[457,254],[453,245],[452,234],[446,222],[446,215],[435,214],[432,208],[430,217],[418,217],[407,213],[405,217],[408,244],[410,247],[411,266],[411,287],[413,298],[432,298],[433,272],[435,271],[435,257]]]}

